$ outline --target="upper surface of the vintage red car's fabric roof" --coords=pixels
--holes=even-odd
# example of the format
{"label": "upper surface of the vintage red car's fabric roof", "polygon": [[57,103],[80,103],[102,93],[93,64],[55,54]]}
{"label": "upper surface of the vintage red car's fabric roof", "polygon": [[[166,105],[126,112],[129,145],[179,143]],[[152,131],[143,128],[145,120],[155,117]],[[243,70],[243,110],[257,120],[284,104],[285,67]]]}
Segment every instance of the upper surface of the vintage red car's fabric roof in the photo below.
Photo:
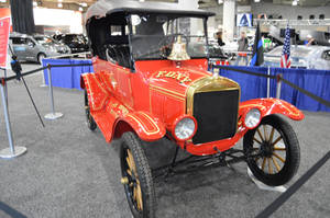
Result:
{"label": "upper surface of the vintage red car's fabric roof", "polygon": [[191,16],[212,16],[215,13],[204,10],[182,10],[177,3],[165,2],[140,2],[140,1],[123,1],[123,0],[99,0],[92,4],[87,13],[85,21],[90,18],[105,18],[112,13],[167,13],[183,14]]}

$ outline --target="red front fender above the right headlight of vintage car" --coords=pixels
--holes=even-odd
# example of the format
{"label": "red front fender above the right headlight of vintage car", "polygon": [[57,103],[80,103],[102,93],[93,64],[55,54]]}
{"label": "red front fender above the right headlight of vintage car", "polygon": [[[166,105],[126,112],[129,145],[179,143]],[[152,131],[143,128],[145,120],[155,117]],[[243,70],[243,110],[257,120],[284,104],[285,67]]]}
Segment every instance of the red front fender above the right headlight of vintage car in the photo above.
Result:
{"label": "red front fender above the right headlight of vintage car", "polygon": [[301,121],[305,117],[304,113],[297,107],[278,99],[256,99],[242,102],[239,111],[240,116],[243,117],[253,107],[261,111],[262,117],[271,114],[283,114],[294,121]]}

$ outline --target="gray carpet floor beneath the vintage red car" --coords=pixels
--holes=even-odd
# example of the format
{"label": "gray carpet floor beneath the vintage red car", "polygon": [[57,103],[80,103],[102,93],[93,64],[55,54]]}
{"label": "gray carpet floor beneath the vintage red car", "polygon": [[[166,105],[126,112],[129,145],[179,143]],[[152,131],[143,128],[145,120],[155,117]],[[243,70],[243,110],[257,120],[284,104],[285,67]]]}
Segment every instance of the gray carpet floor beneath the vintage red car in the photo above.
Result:
{"label": "gray carpet floor beneath the vintage red car", "polygon": [[[36,66],[24,65],[24,69]],[[26,78],[42,115],[50,112],[42,76]],[[99,130],[85,123],[82,92],[54,89],[57,121],[42,128],[22,83],[9,82],[9,107],[16,146],[28,153],[0,159],[0,218],[8,207],[29,218],[132,217],[120,184],[119,140],[107,144]],[[330,149],[329,113],[306,112],[292,122],[301,149],[300,168],[287,186]],[[241,146],[241,141],[238,147]],[[3,110],[0,110],[0,149],[8,147]],[[166,163],[175,146],[146,145],[151,165]],[[327,162],[272,217],[330,217],[330,162]],[[246,164],[176,175],[156,184],[157,217],[254,217],[279,193],[260,190],[248,176]],[[1,210],[2,208],[2,210]]]}

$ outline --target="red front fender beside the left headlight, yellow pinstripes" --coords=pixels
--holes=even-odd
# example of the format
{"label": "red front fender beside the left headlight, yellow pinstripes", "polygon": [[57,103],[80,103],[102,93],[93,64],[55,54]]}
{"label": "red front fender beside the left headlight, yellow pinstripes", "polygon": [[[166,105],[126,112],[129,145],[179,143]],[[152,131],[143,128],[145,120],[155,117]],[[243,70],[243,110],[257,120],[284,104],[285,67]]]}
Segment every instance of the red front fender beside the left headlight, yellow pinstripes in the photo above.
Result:
{"label": "red front fender beside the left headlight, yellow pinstripes", "polygon": [[145,141],[158,140],[166,134],[164,124],[158,118],[145,112],[129,113],[124,115],[123,121]]}

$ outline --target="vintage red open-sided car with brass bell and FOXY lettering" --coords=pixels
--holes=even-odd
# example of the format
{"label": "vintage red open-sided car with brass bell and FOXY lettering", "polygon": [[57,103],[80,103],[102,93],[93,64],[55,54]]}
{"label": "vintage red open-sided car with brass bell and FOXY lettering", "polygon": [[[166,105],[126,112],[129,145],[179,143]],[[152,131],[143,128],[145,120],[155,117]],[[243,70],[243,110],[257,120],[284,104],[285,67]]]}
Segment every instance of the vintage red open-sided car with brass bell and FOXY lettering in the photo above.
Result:
{"label": "vintage red open-sided car with brass bell and FOXY lettering", "polygon": [[[304,114],[279,99],[240,102],[237,82],[208,71],[211,15],[170,3],[110,0],[87,12],[95,69],[81,76],[88,126],[108,142],[122,138],[121,182],[134,217],[154,217],[153,177],[184,171],[179,163],[204,169],[246,161],[273,186],[298,169],[297,137],[277,114],[295,121]],[[162,138],[191,157],[176,161],[176,150],[170,164],[152,170],[141,145]],[[241,138],[243,150],[232,148]]]}

